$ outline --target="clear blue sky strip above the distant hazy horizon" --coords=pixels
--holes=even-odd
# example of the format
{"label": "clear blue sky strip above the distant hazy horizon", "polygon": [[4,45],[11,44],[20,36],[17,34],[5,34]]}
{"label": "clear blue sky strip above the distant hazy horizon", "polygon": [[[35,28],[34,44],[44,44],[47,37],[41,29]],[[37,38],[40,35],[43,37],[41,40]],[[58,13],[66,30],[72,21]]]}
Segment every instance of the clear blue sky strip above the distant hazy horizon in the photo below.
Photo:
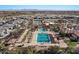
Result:
{"label": "clear blue sky strip above the distant hazy horizon", "polygon": [[79,10],[79,5],[0,5],[0,10]]}

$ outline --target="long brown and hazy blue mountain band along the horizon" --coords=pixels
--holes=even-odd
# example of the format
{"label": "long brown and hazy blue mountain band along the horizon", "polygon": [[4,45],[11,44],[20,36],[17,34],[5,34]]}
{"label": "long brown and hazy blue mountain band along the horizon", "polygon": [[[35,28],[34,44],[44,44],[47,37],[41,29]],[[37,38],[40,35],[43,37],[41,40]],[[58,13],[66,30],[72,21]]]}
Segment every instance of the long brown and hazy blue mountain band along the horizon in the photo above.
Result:
{"label": "long brown and hazy blue mountain band along the horizon", "polygon": [[38,10],[38,9],[9,9],[0,10],[0,16],[4,15],[19,15],[19,14],[70,14],[79,15],[79,11],[74,10]]}

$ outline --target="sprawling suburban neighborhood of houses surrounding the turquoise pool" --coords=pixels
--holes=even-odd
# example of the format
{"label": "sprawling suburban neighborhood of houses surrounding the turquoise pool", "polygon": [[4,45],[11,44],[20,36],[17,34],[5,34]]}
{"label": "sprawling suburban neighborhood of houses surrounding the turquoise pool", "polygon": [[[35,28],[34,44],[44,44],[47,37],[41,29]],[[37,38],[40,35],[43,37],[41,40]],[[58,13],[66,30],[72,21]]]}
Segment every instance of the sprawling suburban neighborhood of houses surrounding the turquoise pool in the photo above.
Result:
{"label": "sprawling suburban neighborhood of houses surrounding the turquoise pool", "polygon": [[79,11],[0,11],[1,54],[78,54]]}

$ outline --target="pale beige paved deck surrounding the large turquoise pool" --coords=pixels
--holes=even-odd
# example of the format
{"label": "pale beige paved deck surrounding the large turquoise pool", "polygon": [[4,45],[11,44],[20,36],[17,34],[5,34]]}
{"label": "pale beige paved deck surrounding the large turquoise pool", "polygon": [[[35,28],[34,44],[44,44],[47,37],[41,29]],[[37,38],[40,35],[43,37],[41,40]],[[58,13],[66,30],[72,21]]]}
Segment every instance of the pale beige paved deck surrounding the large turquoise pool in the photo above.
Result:
{"label": "pale beige paved deck surrounding the large turquoise pool", "polygon": [[[41,33],[41,32],[39,32],[39,31],[35,31],[35,32],[33,32],[33,37],[32,37],[32,41],[31,41],[31,44],[33,44],[33,45],[38,45],[38,46],[58,46],[58,44],[54,44],[54,43],[43,43],[43,44],[41,44],[41,43],[37,43],[37,33]],[[47,34],[51,34],[52,35],[52,37],[54,37],[54,41],[56,42],[56,43],[58,43],[58,40],[57,40],[57,38],[55,37],[55,33],[54,32],[50,32],[50,31],[45,31],[45,32],[42,32],[42,33],[47,33]]]}

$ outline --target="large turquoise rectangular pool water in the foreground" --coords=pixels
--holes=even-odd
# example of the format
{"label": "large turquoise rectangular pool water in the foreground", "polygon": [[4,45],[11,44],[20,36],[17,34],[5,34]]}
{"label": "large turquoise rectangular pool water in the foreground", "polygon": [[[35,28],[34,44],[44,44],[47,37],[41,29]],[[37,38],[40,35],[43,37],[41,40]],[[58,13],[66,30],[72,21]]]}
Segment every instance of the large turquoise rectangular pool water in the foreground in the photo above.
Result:
{"label": "large turquoise rectangular pool water in the foreground", "polygon": [[45,43],[51,42],[50,36],[46,33],[38,33],[37,42]]}

